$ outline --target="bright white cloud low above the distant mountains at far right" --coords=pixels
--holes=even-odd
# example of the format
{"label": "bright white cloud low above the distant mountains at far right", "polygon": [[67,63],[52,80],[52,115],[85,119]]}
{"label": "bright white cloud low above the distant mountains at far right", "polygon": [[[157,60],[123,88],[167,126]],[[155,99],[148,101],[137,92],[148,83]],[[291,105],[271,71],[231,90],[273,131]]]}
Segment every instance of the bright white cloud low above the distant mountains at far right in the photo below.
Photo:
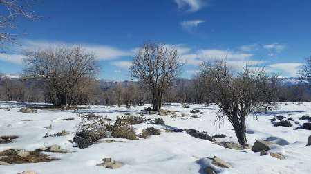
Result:
{"label": "bright white cloud low above the distant mountains at far right", "polygon": [[285,73],[285,75],[290,77],[298,76],[299,67],[301,67],[303,63],[275,63],[268,66],[268,70],[270,72],[281,71]]}

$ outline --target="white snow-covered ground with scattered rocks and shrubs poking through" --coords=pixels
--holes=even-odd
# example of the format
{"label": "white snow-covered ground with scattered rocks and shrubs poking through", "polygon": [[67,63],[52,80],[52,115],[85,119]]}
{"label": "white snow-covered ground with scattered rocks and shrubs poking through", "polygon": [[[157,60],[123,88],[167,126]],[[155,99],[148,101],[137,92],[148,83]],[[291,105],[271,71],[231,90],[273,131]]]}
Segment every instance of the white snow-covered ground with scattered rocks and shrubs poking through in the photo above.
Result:
{"label": "white snow-covered ground with scattered rocks and shrubs poking through", "polygon": [[[238,151],[225,149],[213,142],[191,137],[187,133],[175,133],[164,131],[164,127],[155,124],[135,124],[135,131],[140,133],[146,127],[161,129],[161,135],[153,135],[148,139],[125,140],[106,138],[106,140],[122,140],[123,142],[98,143],[86,149],[73,147],[69,142],[75,135],[75,126],[79,122],[77,113],[73,111],[45,110],[39,109],[37,113],[21,113],[19,109],[27,103],[0,102],[1,108],[12,107],[10,111],[0,109],[0,136],[17,135],[19,138],[8,144],[0,144],[0,151],[5,149],[26,149],[34,150],[42,146],[58,144],[62,149],[70,149],[76,152],[61,154],[48,153],[60,160],[36,164],[13,164],[8,166],[0,165],[0,173],[20,173],[21,171],[32,170],[39,174],[54,173],[202,173],[202,164],[198,160],[203,157],[220,157],[233,167],[226,169],[223,173],[311,173],[311,146],[307,144],[307,138],[311,131],[299,129],[294,130],[303,122],[299,118],[305,114],[311,115],[311,103],[304,102],[301,105],[288,102],[287,105],[279,103],[277,110],[270,113],[258,114],[258,120],[249,116],[247,120],[247,140],[250,145],[255,139],[273,140],[278,143],[274,151],[285,155],[285,160],[279,160],[270,155],[260,156],[251,150]],[[37,104],[40,105],[40,104]],[[89,106],[90,109],[81,109],[79,112],[95,112],[115,120],[117,116],[124,113],[138,114],[144,107],[107,107]],[[237,142],[232,126],[226,120],[223,124],[214,123],[218,108],[214,105],[205,107],[202,105],[190,105],[190,108],[182,108],[181,105],[165,106],[164,109],[189,113],[192,109],[199,109],[202,114],[200,118],[186,119],[187,116],[171,118],[168,116],[146,115],[147,118],[162,118],[165,124],[179,129],[197,129],[206,131],[209,135],[225,134],[226,138],[218,138],[218,141]],[[274,127],[270,119],[274,115],[292,117],[299,121],[293,127]],[[75,120],[66,121],[64,118],[73,117]],[[31,120],[31,121],[30,121]],[[53,129],[45,129],[52,125]],[[66,130],[70,134],[62,137],[43,138],[46,133],[53,134]],[[121,168],[109,169],[96,164],[104,157],[111,157],[113,160],[124,164]]]}

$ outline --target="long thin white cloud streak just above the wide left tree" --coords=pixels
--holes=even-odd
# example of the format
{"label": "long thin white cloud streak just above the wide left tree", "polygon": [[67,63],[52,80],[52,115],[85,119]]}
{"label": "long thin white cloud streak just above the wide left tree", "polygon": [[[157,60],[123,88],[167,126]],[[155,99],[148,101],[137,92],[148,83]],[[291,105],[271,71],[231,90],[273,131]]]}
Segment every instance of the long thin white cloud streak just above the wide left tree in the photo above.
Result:
{"label": "long thin white cloud streak just above the wide left tree", "polygon": [[93,45],[93,44],[86,44],[86,43],[66,43],[66,42],[59,42],[59,41],[32,41],[32,40],[24,40],[22,43],[23,50],[39,50],[39,49],[46,49],[49,47],[56,47],[56,46],[80,46],[83,47],[86,52],[93,52],[97,58],[97,60],[113,60],[120,58],[122,56],[131,56],[131,51],[120,50],[115,47],[110,47],[107,45]]}

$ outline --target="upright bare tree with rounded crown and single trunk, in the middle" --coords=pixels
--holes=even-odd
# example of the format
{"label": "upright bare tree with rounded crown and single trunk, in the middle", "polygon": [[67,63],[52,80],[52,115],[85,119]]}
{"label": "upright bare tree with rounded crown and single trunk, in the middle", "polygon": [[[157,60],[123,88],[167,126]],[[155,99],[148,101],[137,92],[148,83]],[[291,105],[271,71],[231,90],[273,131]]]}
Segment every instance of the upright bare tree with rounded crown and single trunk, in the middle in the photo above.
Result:
{"label": "upright bare tree with rounded crown and single trunk, in the middle", "polygon": [[154,111],[160,111],[162,95],[178,77],[182,65],[176,49],[158,43],[144,44],[133,58],[131,74],[151,90]]}

